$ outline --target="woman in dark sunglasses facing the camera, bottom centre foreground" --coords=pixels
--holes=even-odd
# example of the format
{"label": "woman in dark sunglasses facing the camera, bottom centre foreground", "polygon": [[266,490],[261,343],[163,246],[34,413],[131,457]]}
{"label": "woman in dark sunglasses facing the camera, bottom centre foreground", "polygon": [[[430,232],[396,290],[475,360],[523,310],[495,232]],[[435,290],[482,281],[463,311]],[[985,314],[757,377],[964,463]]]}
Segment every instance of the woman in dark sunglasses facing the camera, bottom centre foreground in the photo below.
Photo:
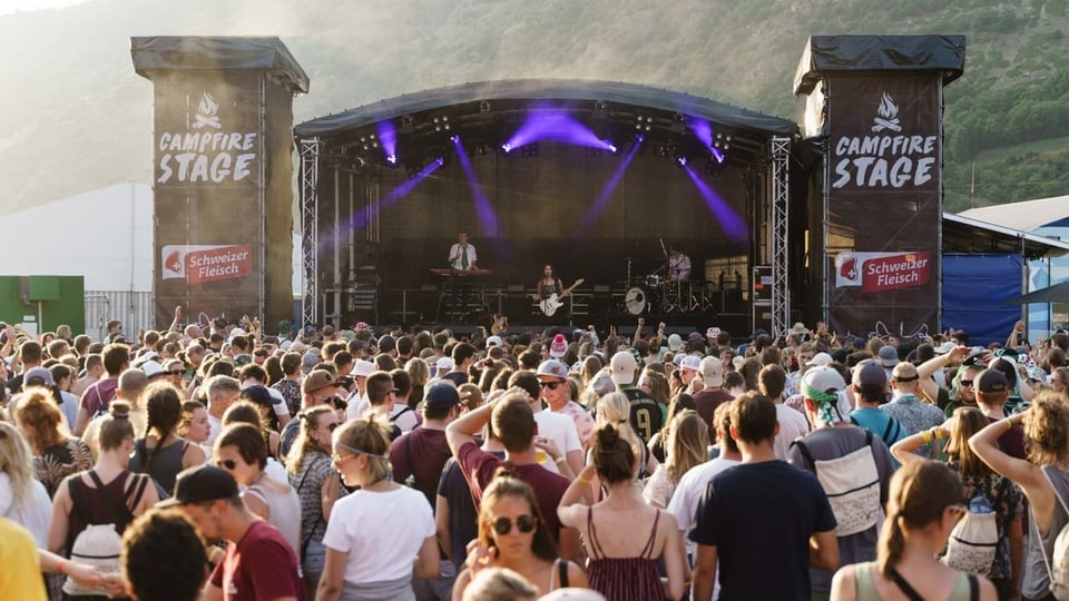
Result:
{"label": "woman in dark sunglasses facing the camera, bottom centre foreground", "polygon": [[508,568],[532,583],[538,595],[566,587],[588,588],[575,563],[560,559],[530,484],[501,471],[482,493],[479,538],[468,544],[468,568],[457,577],[453,601],[484,568]]}

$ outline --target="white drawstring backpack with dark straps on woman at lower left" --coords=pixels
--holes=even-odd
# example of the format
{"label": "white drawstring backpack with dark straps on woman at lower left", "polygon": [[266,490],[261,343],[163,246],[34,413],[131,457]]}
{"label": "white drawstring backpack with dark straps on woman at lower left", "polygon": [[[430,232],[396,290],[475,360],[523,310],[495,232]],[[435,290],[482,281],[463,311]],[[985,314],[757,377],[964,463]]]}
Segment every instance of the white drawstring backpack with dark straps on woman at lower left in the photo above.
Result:
{"label": "white drawstring backpack with dark straps on woman at lower left", "polygon": [[[92,482],[97,485],[97,491],[100,494],[108,496],[108,501],[112,504],[111,506],[111,518],[118,522],[121,520],[121,526],[126,528],[134,519],[134,513],[130,511],[129,505],[120,502],[118,499],[112,496],[109,491],[105,490],[104,482],[100,481],[100,476],[97,475],[97,472],[89,470],[89,477],[92,479]],[[137,482],[133,486],[133,501],[130,503],[133,506],[137,506],[141,501],[141,495],[145,493],[145,487],[148,484],[149,479],[147,476],[133,476],[137,477]],[[70,484],[68,484],[70,486]],[[81,516],[82,521],[87,524],[85,530],[78,533],[75,538],[73,544],[70,545],[70,559],[71,561],[77,561],[79,563],[87,563],[92,565],[97,571],[105,574],[119,573],[121,566],[119,565],[119,555],[122,553],[122,538],[121,533],[116,529],[116,523],[91,523],[91,516],[86,514],[85,509],[79,503],[79,499],[82,499],[85,492],[81,491],[78,494],[73,494],[71,491],[71,509],[77,511]],[[121,511],[119,511],[121,509]],[[67,581],[63,583],[63,592],[69,595],[107,595],[107,591],[102,588],[88,588],[82,587],[81,584],[75,582],[70,577],[67,578]]]}

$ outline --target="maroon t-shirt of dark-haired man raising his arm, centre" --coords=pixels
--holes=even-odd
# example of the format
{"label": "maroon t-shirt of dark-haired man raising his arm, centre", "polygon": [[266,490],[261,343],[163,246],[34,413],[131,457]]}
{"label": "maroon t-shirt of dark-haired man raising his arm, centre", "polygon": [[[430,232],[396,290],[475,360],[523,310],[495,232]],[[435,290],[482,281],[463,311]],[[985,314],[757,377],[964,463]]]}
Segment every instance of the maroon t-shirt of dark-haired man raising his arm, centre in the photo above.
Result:
{"label": "maroon t-shirt of dark-haired man raising his arm, centre", "polygon": [[464,472],[464,477],[471,485],[471,495],[474,497],[475,506],[482,501],[482,491],[493,481],[493,475],[498,467],[506,466],[523,482],[527,482],[534,489],[534,500],[538,502],[538,511],[542,514],[542,521],[548,526],[553,542],[558,542],[560,532],[560,519],[557,518],[557,506],[560,505],[560,497],[568,490],[568,479],[550,472],[538,465],[516,465],[504,460],[500,460],[492,453],[487,453],[475,443],[464,443],[457,454],[457,461],[460,469]]}

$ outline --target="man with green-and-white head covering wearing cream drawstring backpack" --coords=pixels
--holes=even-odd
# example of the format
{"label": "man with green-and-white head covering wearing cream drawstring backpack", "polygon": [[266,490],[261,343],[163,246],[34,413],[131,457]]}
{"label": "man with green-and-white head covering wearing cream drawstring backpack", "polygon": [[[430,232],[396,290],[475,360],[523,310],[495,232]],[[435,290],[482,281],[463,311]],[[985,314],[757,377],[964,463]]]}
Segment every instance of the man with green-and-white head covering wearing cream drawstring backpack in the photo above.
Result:
{"label": "man with green-and-white head covering wearing cream drawstring backpack", "polygon": [[[813,431],[796,440],[787,461],[821,481],[835,512],[838,565],[874,561],[894,465],[887,446],[850,421],[846,382],[832,367],[811,367],[802,378],[805,415]],[[849,473],[854,485],[836,487]],[[827,595],[835,570],[810,569],[814,597]]]}

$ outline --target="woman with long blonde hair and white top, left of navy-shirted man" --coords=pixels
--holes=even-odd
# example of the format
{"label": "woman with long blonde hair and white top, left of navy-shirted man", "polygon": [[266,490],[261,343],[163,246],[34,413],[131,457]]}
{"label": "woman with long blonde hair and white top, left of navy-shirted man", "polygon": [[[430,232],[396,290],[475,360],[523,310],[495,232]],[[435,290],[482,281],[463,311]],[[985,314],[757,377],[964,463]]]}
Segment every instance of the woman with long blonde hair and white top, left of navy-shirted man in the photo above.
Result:
{"label": "woman with long blonde hair and white top, left of navy-shirted man", "polygon": [[643,490],[643,499],[647,503],[666,509],[679,479],[708,461],[708,432],[709,428],[695,411],[685,410],[669,422],[666,461],[657,465]]}

